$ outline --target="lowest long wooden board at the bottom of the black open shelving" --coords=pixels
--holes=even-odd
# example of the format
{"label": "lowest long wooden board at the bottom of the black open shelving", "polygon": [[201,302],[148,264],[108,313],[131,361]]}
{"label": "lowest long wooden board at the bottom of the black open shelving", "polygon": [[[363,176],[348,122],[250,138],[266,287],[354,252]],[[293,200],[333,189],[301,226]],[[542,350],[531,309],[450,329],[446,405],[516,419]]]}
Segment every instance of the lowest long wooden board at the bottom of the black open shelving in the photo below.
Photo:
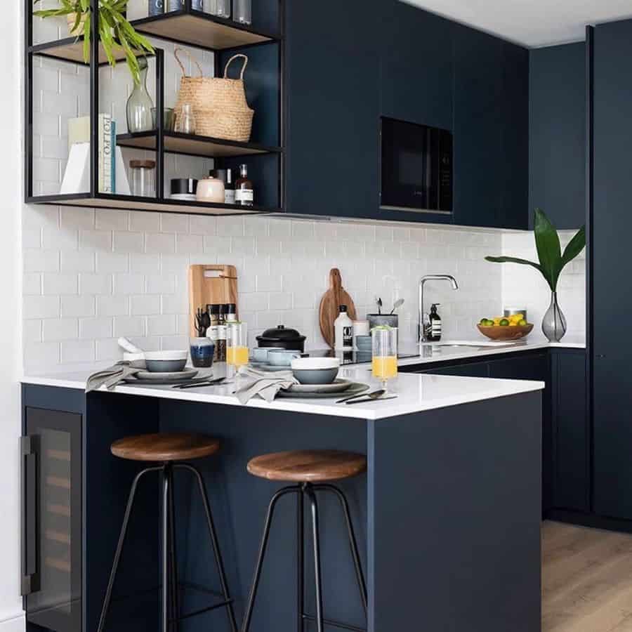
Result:
{"label": "lowest long wooden board at the bottom of the black open shelving", "polygon": [[187,213],[187,215],[261,215],[281,213],[281,209],[265,206],[235,206],[234,204],[204,204],[204,202],[172,202],[170,199],[139,198],[129,195],[45,195],[26,199],[27,204],[62,204],[85,206],[96,209],[121,209],[126,211],[155,211],[157,213]]}

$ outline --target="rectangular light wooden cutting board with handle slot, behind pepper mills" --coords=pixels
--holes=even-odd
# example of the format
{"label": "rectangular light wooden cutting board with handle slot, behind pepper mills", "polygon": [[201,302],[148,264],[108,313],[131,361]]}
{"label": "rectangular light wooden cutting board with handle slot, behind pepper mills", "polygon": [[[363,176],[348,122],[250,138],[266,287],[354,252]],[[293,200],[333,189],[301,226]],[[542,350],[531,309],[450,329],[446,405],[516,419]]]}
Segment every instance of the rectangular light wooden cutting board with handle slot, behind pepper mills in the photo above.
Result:
{"label": "rectangular light wooden cutting board with handle slot, behind pepper mills", "polygon": [[189,320],[191,336],[197,336],[195,314],[197,308],[206,310],[206,305],[235,303],[237,317],[237,268],[220,263],[189,266]]}

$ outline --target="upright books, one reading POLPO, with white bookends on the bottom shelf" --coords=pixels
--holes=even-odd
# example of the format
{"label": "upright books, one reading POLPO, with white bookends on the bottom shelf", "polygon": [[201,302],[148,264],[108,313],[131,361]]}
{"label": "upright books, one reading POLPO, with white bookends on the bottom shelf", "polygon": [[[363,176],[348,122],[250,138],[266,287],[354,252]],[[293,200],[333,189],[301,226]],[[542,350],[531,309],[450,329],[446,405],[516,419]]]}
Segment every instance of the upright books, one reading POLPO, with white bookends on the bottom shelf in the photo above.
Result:
{"label": "upright books, one reading POLPO, with white bookends on the bottom shelf", "polygon": [[[99,193],[130,195],[123,154],[117,147],[117,123],[111,114],[98,120]],[[60,193],[85,193],[90,190],[90,117],[68,121],[70,154]]]}

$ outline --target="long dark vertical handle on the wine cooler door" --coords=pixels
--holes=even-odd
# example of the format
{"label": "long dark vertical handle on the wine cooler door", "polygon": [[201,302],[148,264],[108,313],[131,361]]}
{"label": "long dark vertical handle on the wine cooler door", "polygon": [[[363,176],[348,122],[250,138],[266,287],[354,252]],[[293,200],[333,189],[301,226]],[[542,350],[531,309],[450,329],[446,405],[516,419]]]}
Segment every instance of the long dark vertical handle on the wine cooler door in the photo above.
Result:
{"label": "long dark vertical handle on the wine cooler door", "polygon": [[22,448],[22,596],[39,591],[39,520],[36,438],[20,438]]}

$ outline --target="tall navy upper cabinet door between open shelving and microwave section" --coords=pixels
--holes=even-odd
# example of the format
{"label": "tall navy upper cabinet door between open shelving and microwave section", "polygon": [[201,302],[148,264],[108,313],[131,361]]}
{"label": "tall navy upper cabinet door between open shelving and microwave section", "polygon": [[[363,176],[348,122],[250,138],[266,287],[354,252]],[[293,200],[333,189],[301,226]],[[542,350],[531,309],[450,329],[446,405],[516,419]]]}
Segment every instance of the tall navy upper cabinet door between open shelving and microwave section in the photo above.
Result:
{"label": "tall navy upper cabinet door between open shelving and microwave section", "polygon": [[[374,3],[286,4],[286,211],[378,214],[379,44]],[[374,6],[379,7],[378,3]]]}

